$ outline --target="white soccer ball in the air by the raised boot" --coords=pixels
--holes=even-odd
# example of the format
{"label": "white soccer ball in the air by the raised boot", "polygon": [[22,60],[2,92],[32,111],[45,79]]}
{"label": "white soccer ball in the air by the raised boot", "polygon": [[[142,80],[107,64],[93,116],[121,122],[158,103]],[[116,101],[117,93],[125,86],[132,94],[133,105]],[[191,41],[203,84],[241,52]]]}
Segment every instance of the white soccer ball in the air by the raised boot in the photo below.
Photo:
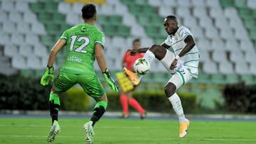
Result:
{"label": "white soccer ball in the air by the raised boot", "polygon": [[138,72],[139,74],[146,74],[149,72],[150,65],[144,58],[138,58],[134,62],[134,71]]}

